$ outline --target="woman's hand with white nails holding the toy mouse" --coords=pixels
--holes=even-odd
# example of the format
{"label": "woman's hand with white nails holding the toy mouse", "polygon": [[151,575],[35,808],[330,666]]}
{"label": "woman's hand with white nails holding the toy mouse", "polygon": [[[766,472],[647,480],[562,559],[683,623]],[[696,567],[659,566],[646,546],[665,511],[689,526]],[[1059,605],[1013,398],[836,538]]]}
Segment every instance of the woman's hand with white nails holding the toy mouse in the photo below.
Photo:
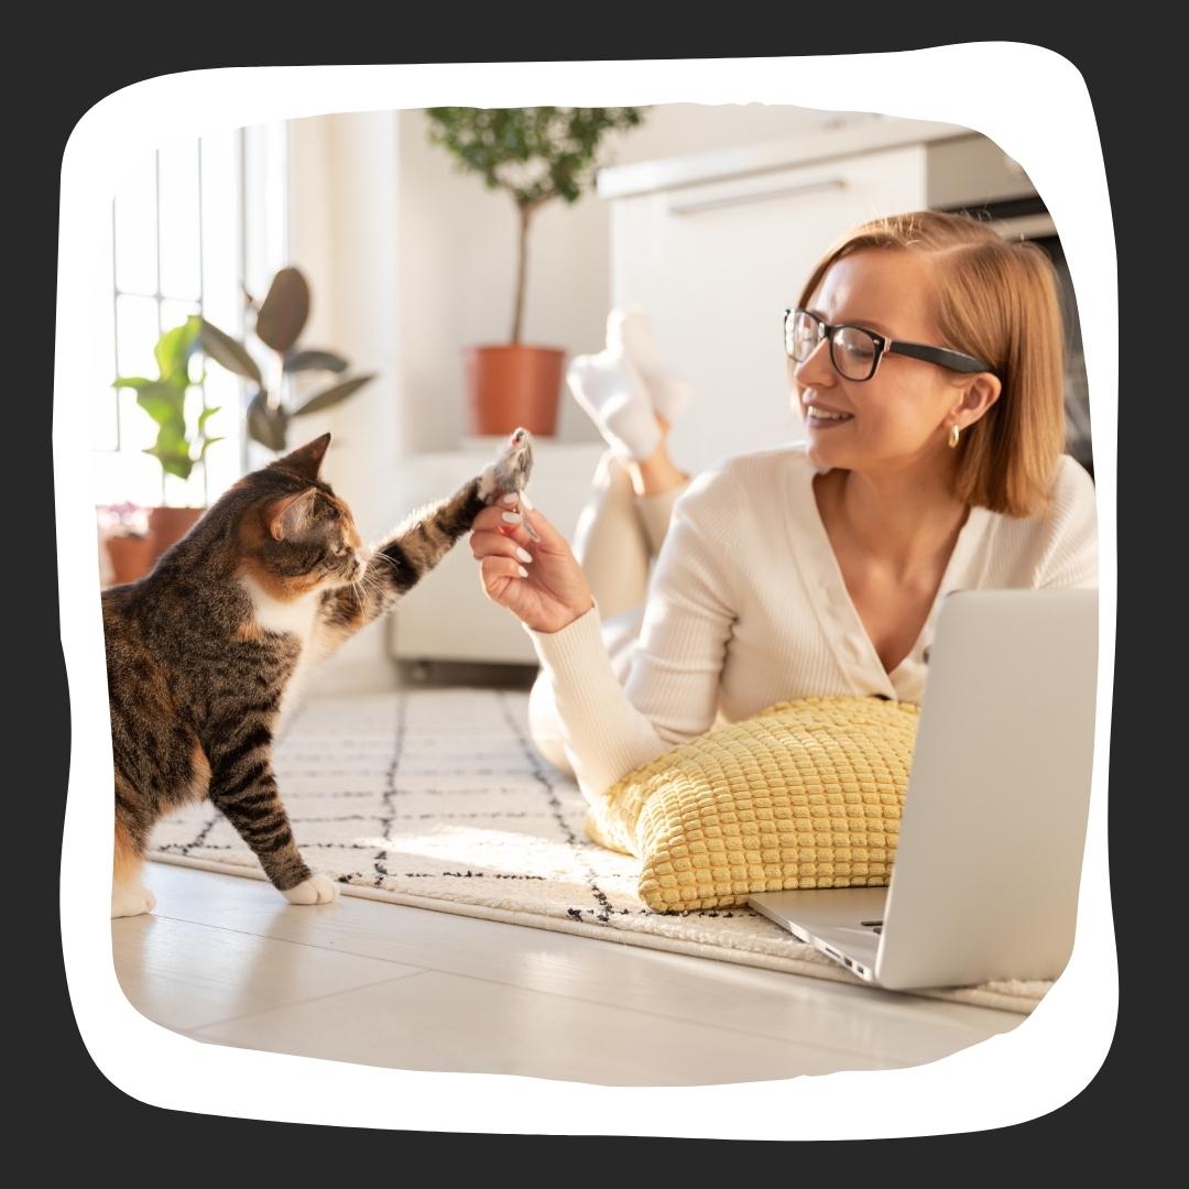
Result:
{"label": "woman's hand with white nails holding the toy mouse", "polygon": [[[529,536],[524,516],[540,541]],[[471,552],[487,598],[533,631],[560,631],[594,605],[566,539],[535,508],[524,510],[518,496],[504,496],[476,516]]]}

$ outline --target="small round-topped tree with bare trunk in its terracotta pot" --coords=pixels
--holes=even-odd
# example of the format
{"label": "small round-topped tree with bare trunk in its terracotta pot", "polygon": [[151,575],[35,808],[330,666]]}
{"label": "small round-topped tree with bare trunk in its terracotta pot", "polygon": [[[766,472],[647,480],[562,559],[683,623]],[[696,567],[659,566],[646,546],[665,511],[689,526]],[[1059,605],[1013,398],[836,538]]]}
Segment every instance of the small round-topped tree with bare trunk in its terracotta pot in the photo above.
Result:
{"label": "small round-topped tree with bare trunk in its terracotta pot", "polygon": [[471,429],[505,434],[516,426],[541,436],[556,428],[565,352],[521,340],[528,234],[534,215],[560,199],[577,202],[599,165],[599,143],[612,130],[630,128],[635,107],[430,107],[429,139],[446,149],[463,171],[479,174],[491,190],[516,205],[518,241],[511,333],[507,344],[465,353]]}

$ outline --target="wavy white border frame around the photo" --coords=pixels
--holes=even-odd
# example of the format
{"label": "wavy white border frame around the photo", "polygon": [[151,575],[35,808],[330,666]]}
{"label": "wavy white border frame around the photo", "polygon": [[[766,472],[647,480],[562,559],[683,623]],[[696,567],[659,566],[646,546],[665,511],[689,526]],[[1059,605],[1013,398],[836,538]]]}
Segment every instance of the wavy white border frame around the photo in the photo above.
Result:
{"label": "wavy white border frame around the photo", "polygon": [[[993,84],[1009,78],[1009,87]],[[84,352],[96,219],[122,146],[326,112],[440,103],[789,103],[944,120],[990,137],[1027,171],[1061,232],[1078,295],[1094,419],[1101,548],[1097,731],[1077,942],[1065,974],[1004,1036],[906,1070],[786,1082],[608,1088],[529,1077],[352,1067],[203,1045],[150,1023],[112,963],[107,888],[112,751],[88,482]],[[1111,1046],[1118,975],[1107,877],[1118,408],[1118,290],[1105,165],[1084,80],[1064,57],[1020,43],[804,58],[276,67],[196,71],[137,83],[96,103],[63,159],[54,455],[62,643],[73,750],[62,863],[62,938],[80,1032],[102,1074],[156,1106],[243,1118],[415,1131],[844,1139],[994,1128],[1044,1115],[1093,1080]],[[262,1093],[262,1088],[266,1092]],[[597,1099],[596,1099],[597,1096]],[[598,1109],[583,1109],[594,1106]],[[611,1109],[608,1109],[608,1107]]]}

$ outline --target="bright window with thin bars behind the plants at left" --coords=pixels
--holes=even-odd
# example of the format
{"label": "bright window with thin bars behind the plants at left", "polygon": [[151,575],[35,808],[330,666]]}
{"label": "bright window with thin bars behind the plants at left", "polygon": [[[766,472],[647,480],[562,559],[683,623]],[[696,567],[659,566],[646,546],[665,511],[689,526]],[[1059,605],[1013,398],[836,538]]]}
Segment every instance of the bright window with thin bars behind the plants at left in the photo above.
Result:
{"label": "bright window with thin bars behind the plants at left", "polygon": [[187,423],[218,408],[207,432],[222,440],[187,480],[162,473],[145,447],[156,423],[117,376],[156,376],[162,331],[203,314],[241,338],[244,290],[258,300],[287,257],[284,125],[233,130],[149,150],[120,180],[112,203],[112,302],[99,312],[111,342],[111,372],[96,378],[93,461],[96,504],[210,503],[244,472],[247,443],[243,382],[194,360]]}

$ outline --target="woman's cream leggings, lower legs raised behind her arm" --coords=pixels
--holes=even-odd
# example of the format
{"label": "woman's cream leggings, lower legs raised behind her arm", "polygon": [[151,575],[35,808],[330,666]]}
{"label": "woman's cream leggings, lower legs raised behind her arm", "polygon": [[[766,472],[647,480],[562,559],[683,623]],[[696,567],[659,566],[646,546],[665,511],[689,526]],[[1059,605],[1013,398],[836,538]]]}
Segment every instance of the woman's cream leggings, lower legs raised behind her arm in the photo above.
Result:
{"label": "woman's cream leggings, lower legs raised behind her arm", "polygon": [[[637,496],[627,467],[606,451],[594,468],[590,499],[578,517],[574,556],[598,602],[603,642],[621,685],[628,680],[631,646],[643,622],[652,564],[668,531],[673,505],[690,482],[658,496]],[[541,755],[573,775],[553,688],[543,672],[529,693],[528,722]]]}

